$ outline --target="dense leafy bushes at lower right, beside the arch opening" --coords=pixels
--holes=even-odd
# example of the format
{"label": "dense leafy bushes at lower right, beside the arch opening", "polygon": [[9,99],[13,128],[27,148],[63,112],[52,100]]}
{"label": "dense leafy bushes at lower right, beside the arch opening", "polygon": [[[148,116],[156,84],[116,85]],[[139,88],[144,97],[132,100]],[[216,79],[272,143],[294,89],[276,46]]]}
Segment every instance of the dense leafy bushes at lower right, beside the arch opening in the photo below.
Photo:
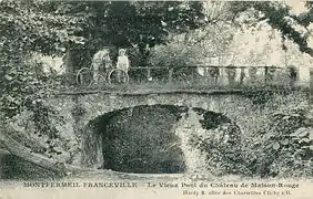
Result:
{"label": "dense leafy bushes at lower right, beside the arch opening", "polygon": [[[246,118],[253,129],[239,132],[233,125],[219,124],[211,126],[208,135],[193,138],[194,145],[208,154],[208,168],[221,176],[312,177],[312,111],[299,96],[273,95],[272,105],[261,111],[269,116]],[[287,105],[276,106],[279,103]]]}

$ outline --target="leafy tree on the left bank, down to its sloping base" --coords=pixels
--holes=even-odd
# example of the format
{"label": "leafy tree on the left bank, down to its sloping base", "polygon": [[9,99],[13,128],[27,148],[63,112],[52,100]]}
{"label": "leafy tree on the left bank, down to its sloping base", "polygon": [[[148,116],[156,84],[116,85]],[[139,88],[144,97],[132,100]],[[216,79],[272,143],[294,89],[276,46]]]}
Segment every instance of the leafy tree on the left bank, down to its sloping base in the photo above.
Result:
{"label": "leafy tree on the left bank, down to its sloping base", "polygon": [[[43,1],[0,2],[1,145],[13,155],[43,166],[49,161],[40,160],[34,153],[28,154],[29,148],[21,145],[27,143],[26,133],[30,132],[19,135],[21,142],[17,142],[11,137],[14,130],[7,127],[14,116],[29,112],[30,117],[26,119],[33,123],[38,137],[48,136],[50,140],[58,137],[51,124],[55,109],[46,102],[53,94],[47,84],[49,76],[42,72],[41,64],[28,62],[28,59],[33,52],[53,55],[62,53],[70,42],[80,43],[82,38],[71,31],[77,31],[81,18],[47,12],[47,9],[49,2]],[[34,148],[38,143],[31,139],[28,146]]]}

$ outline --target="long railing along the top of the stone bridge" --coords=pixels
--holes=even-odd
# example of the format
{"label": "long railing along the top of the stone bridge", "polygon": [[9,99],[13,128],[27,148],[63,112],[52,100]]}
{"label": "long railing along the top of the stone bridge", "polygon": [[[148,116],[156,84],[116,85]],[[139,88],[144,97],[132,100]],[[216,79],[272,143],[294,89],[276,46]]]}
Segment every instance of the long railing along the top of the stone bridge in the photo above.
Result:
{"label": "long railing along the top of the stone bridge", "polygon": [[[108,73],[102,75],[108,77]],[[240,87],[243,85],[281,85],[294,86],[297,84],[299,72],[292,67],[277,66],[131,66],[129,69],[129,86],[141,88],[162,87],[164,85],[178,87]],[[64,86],[75,86],[77,73],[62,76]],[[119,87],[108,81],[94,83],[91,87]]]}

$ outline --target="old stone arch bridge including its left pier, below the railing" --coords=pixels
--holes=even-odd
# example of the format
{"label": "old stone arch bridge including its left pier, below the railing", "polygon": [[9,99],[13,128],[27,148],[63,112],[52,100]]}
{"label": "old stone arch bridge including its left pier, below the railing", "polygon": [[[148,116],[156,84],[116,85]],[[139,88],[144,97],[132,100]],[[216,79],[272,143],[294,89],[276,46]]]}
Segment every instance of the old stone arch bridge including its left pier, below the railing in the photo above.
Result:
{"label": "old stone arch bridge including its left pier, below the railing", "polygon": [[[264,92],[264,91],[263,91]],[[254,92],[255,93],[255,92]],[[99,118],[114,112],[139,106],[172,105],[175,107],[200,108],[218,113],[232,121],[244,134],[256,130],[262,123],[269,122],[272,112],[285,106],[285,102],[297,101],[300,95],[272,93],[271,103],[255,100],[264,94],[234,91],[189,91],[189,92],[143,92],[143,93],[63,93],[51,100],[59,108],[67,124],[59,132],[74,136],[80,145],[74,165],[80,167],[100,167],[103,161],[102,138],[94,134],[94,124]],[[258,104],[260,103],[260,104]],[[262,119],[259,119],[262,118]],[[142,122],[144,123],[144,122]],[[92,153],[93,151],[93,153]]]}

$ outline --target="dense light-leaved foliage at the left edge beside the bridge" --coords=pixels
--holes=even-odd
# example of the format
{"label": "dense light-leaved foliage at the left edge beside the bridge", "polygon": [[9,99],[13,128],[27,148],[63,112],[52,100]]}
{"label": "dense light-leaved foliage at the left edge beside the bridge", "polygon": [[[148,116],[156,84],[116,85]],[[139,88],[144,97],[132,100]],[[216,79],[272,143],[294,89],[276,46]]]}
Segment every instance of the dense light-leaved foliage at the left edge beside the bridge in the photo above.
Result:
{"label": "dense light-leaved foliage at the left edge beside the bridge", "polygon": [[[47,103],[58,84],[51,82],[52,74],[43,73],[42,63],[30,57],[34,52],[62,53],[69,42],[79,43],[82,38],[69,33],[80,23],[79,18],[50,13],[47,6],[43,1],[0,2],[0,113],[1,136],[53,159],[60,148],[68,150],[57,129],[63,119]],[[13,143],[3,144],[6,148]]]}

